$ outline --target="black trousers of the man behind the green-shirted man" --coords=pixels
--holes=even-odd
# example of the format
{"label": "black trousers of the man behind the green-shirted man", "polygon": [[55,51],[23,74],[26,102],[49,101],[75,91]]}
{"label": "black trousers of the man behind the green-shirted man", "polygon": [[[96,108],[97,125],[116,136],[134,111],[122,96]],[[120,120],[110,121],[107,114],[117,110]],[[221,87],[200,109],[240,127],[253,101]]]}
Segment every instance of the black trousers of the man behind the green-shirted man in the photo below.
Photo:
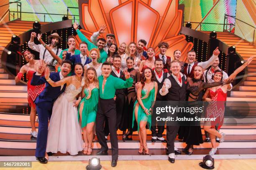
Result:
{"label": "black trousers of the man behind the green-shirted man", "polygon": [[[121,120],[122,120],[122,116],[123,116],[123,105],[124,105],[124,95],[123,94],[118,94],[116,95],[116,99],[115,99],[115,105],[116,105],[116,130],[118,130]],[[105,122],[105,136],[108,136],[109,134],[109,127],[108,127],[108,121]]]}

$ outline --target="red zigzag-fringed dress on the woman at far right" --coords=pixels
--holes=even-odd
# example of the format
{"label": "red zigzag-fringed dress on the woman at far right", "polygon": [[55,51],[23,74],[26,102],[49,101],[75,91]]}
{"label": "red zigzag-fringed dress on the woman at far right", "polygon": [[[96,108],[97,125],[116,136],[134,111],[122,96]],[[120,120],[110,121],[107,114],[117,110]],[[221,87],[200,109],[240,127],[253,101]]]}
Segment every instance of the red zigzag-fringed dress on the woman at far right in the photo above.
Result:
{"label": "red zigzag-fringed dress on the woman at far right", "polygon": [[218,129],[223,124],[224,112],[225,112],[225,101],[227,100],[227,93],[223,92],[221,88],[218,88],[215,92],[209,90],[210,98],[215,102],[207,106],[206,115],[207,118],[216,118],[215,121],[211,121],[212,128],[218,126]]}

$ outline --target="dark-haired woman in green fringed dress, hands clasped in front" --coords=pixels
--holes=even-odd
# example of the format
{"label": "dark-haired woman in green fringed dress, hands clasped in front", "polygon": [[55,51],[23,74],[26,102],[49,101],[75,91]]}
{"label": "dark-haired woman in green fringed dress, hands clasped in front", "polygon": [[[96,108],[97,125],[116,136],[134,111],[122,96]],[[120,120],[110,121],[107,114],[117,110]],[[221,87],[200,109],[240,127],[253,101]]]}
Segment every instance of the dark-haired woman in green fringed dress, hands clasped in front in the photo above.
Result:
{"label": "dark-haired woman in green fringed dress, hands clasped in front", "polygon": [[140,139],[139,153],[145,151],[145,155],[149,154],[148,146],[146,143],[146,125],[151,128],[151,110],[153,110],[156,101],[157,82],[154,81],[154,72],[151,68],[144,69],[139,82],[137,90],[137,100],[133,107],[133,122],[136,119],[138,125],[138,135]]}

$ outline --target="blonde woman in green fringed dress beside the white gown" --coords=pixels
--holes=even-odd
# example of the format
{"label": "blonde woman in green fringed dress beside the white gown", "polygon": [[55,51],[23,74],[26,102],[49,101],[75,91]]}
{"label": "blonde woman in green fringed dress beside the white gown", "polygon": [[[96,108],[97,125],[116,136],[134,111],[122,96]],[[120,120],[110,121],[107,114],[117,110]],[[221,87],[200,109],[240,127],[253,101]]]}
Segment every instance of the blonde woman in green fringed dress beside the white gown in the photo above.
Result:
{"label": "blonde woman in green fringed dress beside the white gown", "polygon": [[78,119],[84,136],[84,154],[92,154],[93,127],[99,101],[99,80],[95,68],[89,67],[85,72],[82,100],[79,105]]}

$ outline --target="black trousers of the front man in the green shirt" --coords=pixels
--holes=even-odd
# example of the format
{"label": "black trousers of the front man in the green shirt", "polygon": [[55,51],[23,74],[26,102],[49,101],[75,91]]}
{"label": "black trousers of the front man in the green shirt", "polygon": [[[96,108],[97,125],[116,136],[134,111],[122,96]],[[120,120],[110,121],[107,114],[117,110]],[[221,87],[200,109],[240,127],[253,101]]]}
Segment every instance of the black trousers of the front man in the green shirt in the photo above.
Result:
{"label": "black trousers of the front man in the green shirt", "polygon": [[102,151],[108,150],[108,145],[104,134],[105,120],[109,125],[112,160],[117,160],[118,139],[116,134],[116,108],[114,99],[99,99],[98,112],[96,116],[96,135]]}

